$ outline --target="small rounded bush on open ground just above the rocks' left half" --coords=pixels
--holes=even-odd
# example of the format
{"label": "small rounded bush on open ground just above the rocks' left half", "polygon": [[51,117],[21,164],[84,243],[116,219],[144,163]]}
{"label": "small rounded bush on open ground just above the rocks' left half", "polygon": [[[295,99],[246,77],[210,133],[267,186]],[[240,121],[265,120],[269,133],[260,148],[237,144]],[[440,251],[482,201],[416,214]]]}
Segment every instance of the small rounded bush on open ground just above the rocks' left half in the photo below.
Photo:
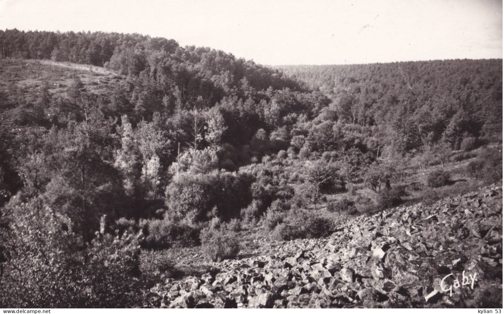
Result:
{"label": "small rounded bush on open ground just above the rocks' left half", "polygon": [[219,228],[203,229],[200,238],[203,255],[214,262],[233,259],[240,250],[236,233],[225,224],[220,225]]}

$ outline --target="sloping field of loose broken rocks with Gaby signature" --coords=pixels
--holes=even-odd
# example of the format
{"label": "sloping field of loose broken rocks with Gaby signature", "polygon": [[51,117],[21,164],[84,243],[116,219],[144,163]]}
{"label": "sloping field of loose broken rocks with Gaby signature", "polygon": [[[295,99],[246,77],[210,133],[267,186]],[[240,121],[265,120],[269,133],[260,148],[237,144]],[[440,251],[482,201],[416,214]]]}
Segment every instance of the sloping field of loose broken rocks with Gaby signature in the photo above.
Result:
{"label": "sloping field of loose broken rocks with Gaby signature", "polygon": [[500,185],[394,208],[383,219],[353,217],[329,238],[279,244],[263,256],[216,263],[220,271],[201,277],[167,279],[151,289],[152,304],[502,307]]}

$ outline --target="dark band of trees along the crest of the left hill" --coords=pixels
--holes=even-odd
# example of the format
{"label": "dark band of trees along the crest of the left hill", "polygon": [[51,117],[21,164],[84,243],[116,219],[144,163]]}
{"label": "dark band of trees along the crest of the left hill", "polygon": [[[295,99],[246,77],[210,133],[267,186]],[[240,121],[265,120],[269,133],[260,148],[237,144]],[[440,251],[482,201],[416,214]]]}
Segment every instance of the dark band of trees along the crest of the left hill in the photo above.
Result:
{"label": "dark band of trees along the crest of the left hill", "polygon": [[[0,57],[68,61],[105,67],[120,75],[149,76],[177,86],[181,97],[220,100],[234,86],[281,89],[297,86],[278,71],[206,47],[180,47],[173,39],[102,32],[0,31]],[[210,95],[212,93],[212,95]],[[211,103],[213,105],[214,103]]]}

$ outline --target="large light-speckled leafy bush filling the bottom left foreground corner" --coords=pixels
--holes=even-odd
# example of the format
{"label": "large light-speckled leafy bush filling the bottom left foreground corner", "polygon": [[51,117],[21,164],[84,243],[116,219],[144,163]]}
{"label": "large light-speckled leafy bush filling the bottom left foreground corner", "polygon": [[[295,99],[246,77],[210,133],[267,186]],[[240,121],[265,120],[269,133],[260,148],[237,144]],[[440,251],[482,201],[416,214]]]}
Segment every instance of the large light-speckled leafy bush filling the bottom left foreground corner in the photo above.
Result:
{"label": "large light-speckled leafy bush filling the bottom left foreground corner", "polygon": [[[0,284],[6,307],[129,307],[140,302],[140,235],[96,232],[84,244],[57,214],[26,209],[9,221]],[[5,231],[5,232],[4,232]],[[22,270],[22,271],[19,271]]]}

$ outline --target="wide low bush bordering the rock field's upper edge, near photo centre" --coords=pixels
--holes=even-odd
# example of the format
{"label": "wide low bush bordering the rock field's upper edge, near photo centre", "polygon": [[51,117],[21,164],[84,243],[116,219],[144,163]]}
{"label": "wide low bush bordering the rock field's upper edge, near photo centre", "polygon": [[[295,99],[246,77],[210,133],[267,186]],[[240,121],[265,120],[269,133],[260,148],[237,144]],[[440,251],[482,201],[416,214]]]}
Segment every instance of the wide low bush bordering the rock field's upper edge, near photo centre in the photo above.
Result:
{"label": "wide low bush bordering the rock field's upper edge, near photo centre", "polygon": [[273,234],[277,239],[292,240],[320,238],[331,234],[333,230],[332,220],[301,210],[291,210],[285,221],[275,227]]}

